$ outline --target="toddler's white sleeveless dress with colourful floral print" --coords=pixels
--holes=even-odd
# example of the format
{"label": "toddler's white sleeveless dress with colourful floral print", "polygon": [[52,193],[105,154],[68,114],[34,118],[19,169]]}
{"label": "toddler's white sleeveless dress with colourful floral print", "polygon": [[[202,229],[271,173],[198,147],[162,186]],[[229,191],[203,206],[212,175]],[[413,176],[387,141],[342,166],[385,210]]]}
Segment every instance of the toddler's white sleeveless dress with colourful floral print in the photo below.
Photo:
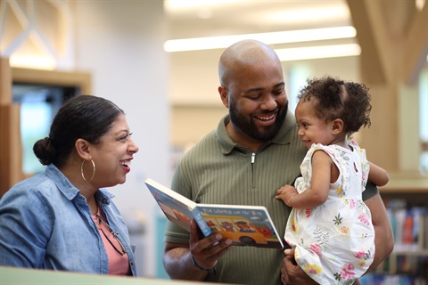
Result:
{"label": "toddler's white sleeveless dress with colourful floral print", "polygon": [[295,182],[299,193],[310,188],[311,159],[325,151],[339,168],[330,184],[328,199],[317,208],[292,208],[285,240],[295,248],[301,269],[320,284],[352,284],[366,272],[374,258],[374,227],[362,200],[369,166],[366,151],[348,142],[352,151],[338,145],[313,144],[301,163],[302,177]]}

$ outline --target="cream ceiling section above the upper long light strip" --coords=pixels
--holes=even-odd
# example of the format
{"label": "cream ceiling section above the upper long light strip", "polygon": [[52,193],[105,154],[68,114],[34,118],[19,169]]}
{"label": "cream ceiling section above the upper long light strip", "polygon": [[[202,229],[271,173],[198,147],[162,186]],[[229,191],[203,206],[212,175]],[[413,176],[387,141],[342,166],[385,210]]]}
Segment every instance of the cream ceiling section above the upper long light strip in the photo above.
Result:
{"label": "cream ceiling section above the upper long light strip", "polygon": [[165,12],[170,39],[352,25],[345,0],[165,0]]}

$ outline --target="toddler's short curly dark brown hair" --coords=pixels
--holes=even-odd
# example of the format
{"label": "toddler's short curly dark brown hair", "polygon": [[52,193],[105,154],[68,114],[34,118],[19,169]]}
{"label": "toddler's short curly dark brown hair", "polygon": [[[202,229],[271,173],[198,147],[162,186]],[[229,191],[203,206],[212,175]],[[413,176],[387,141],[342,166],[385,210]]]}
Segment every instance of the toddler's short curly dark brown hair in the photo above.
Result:
{"label": "toddler's short curly dark brown hair", "polygon": [[308,78],[307,83],[297,98],[314,100],[317,118],[325,118],[325,122],[341,118],[348,137],[358,132],[361,126],[371,125],[371,95],[366,85],[329,76]]}

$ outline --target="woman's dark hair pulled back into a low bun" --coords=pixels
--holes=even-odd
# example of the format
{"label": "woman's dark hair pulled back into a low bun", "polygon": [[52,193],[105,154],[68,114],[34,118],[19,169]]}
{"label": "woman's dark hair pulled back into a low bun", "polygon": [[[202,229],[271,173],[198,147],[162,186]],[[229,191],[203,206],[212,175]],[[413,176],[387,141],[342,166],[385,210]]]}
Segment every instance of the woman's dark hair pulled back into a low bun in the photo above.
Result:
{"label": "woman's dark hair pulled back into a low bun", "polygon": [[72,97],[53,118],[49,136],[34,144],[34,154],[43,165],[53,163],[62,167],[79,138],[98,144],[123,114],[123,110],[107,99],[91,95]]}

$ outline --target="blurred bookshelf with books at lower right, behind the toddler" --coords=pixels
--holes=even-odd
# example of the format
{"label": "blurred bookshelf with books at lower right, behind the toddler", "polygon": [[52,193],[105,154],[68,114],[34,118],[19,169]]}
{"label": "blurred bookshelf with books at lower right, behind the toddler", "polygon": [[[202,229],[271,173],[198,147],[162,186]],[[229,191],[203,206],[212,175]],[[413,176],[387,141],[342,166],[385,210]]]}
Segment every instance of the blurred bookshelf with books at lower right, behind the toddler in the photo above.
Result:
{"label": "blurred bookshelf with books at lower right, behind the toddler", "polygon": [[380,188],[394,232],[394,250],[363,285],[428,285],[428,176],[391,175]]}

